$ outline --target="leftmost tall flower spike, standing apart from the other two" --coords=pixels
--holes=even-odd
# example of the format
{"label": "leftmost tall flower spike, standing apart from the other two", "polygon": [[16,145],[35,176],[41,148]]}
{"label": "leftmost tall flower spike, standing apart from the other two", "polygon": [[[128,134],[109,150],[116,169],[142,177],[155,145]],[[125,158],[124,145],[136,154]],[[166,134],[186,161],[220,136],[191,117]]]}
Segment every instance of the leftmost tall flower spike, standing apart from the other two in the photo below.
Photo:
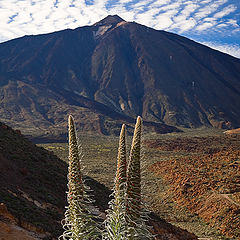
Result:
{"label": "leftmost tall flower spike, standing apart from the other two", "polygon": [[68,207],[63,220],[65,230],[59,239],[90,240],[100,239],[100,231],[91,213],[92,201],[87,194],[81,172],[81,156],[73,117],[69,124],[69,167],[68,167]]}

